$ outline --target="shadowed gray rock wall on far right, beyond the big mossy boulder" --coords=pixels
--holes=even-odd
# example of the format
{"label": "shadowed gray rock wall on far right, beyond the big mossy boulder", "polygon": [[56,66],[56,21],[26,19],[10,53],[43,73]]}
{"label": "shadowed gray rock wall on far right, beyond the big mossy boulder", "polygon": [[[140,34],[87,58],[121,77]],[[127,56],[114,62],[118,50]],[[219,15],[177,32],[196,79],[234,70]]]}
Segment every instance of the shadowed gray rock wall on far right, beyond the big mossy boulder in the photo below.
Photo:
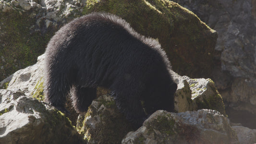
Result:
{"label": "shadowed gray rock wall on far right, beyond the big mossy boulder", "polygon": [[212,79],[231,121],[256,129],[256,0],[173,1],[218,32]]}

